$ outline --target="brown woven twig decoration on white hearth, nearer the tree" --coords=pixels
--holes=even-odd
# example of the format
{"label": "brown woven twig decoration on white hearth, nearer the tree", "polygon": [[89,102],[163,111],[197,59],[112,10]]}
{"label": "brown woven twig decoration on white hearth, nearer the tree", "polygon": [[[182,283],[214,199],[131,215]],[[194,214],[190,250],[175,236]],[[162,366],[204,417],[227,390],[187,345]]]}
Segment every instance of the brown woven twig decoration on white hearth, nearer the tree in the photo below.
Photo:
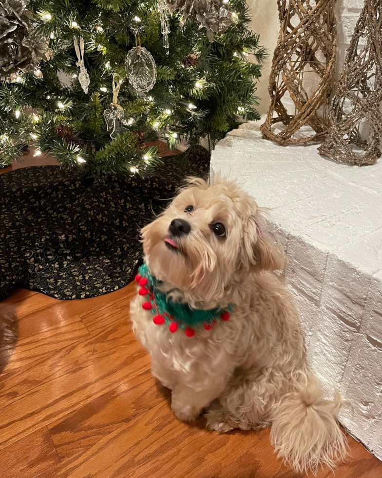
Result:
{"label": "brown woven twig decoration on white hearth, nearer the tree", "polygon": [[[335,1],[277,0],[281,29],[269,78],[271,101],[261,127],[264,138],[287,145],[325,135],[336,60]],[[281,132],[275,132],[275,123],[282,123]],[[296,135],[305,124],[311,134]]]}

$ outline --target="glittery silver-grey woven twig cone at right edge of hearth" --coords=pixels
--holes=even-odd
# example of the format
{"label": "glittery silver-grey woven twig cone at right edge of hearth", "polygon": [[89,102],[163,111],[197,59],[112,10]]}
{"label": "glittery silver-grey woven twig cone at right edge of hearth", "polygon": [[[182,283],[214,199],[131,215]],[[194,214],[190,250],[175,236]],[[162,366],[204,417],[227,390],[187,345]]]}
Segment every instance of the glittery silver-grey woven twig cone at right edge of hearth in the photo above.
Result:
{"label": "glittery silver-grey woven twig cone at right edge of hearth", "polygon": [[374,164],[381,156],[381,101],[382,3],[365,0],[330,104],[329,132],[319,152],[351,164]]}

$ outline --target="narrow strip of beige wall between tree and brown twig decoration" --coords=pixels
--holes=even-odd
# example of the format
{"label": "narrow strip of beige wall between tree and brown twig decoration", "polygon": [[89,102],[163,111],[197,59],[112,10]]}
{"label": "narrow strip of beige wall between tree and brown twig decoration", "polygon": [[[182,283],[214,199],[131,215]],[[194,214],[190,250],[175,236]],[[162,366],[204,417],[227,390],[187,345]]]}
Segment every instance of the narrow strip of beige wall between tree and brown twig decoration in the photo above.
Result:
{"label": "narrow strip of beige wall between tree and brown twig decoration", "polygon": [[252,11],[252,30],[260,34],[261,44],[264,45],[269,55],[264,64],[263,75],[258,83],[257,94],[261,98],[258,110],[261,114],[267,113],[269,104],[268,79],[272,64],[273,51],[279,33],[279,19],[276,0],[248,0]]}

